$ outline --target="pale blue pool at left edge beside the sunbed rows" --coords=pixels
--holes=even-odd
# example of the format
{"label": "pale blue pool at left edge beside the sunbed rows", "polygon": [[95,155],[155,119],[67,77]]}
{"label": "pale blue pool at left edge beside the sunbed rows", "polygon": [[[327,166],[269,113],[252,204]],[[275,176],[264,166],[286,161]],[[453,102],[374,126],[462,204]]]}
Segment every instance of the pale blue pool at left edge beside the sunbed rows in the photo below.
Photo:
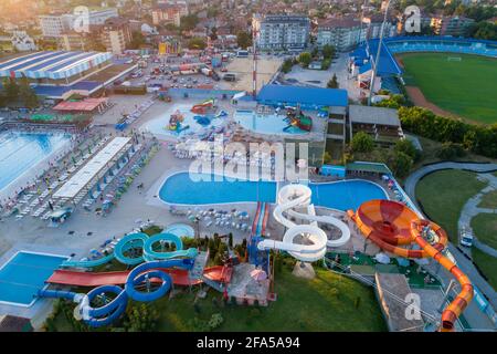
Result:
{"label": "pale blue pool at left edge beside the sunbed rows", "polygon": [[68,134],[0,133],[0,190],[63,147]]}

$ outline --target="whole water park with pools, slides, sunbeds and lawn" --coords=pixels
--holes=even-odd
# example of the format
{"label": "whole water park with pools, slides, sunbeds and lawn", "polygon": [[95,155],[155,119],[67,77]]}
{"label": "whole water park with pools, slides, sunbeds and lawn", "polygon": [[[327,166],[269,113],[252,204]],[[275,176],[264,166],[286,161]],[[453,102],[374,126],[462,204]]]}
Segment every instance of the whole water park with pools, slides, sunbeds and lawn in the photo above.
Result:
{"label": "whole water park with pools, slides, sunbeds and lawn", "polygon": [[[322,163],[347,100],[309,90],[170,91],[123,129],[2,132],[20,158],[39,147],[32,165],[60,155],[2,202],[0,313],[40,331],[127,331],[135,310],[160,331],[470,331],[488,313],[447,232],[387,165]],[[215,150],[214,136],[319,148],[290,162],[304,179],[202,178],[192,162],[275,170],[275,154]]]}

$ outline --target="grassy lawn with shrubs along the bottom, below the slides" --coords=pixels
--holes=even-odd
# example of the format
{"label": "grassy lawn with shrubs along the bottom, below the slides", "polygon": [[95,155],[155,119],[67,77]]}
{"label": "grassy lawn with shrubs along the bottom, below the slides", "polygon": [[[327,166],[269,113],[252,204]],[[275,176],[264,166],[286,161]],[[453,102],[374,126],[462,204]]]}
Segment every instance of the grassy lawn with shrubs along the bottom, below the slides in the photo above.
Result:
{"label": "grassy lawn with shrubs along the bottom, below the slides", "polygon": [[[197,331],[193,319],[209,321],[214,313],[224,319],[219,331],[387,331],[371,288],[328,270],[316,272],[316,279],[309,281],[283,267],[276,275],[278,299],[267,308],[224,305],[222,294],[213,290],[198,300],[197,310],[195,291],[187,290],[148,305],[160,314],[158,331]],[[55,324],[59,331],[71,331],[62,314]]]}

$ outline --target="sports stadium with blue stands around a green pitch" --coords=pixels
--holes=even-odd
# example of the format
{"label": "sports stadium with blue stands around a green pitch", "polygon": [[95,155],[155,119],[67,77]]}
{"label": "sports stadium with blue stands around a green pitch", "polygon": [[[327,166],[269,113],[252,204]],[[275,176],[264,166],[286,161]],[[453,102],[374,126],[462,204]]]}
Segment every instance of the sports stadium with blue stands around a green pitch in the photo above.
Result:
{"label": "sports stadium with blue stands around a green pitch", "polygon": [[[368,88],[371,63],[379,40],[368,41],[350,53],[352,71]],[[444,116],[469,122],[496,122],[497,107],[490,92],[497,82],[497,42],[452,37],[399,37],[384,39],[378,64],[381,86]]]}

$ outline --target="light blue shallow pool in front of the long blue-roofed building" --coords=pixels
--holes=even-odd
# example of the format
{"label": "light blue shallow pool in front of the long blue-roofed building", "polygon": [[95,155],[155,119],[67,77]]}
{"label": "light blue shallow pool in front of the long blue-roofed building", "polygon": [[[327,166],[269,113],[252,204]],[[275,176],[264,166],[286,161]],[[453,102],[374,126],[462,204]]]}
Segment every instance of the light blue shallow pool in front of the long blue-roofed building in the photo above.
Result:
{"label": "light blue shallow pool in front of the long blue-roofed building", "polygon": [[[285,115],[257,115],[253,111],[236,111],[234,121],[237,122],[245,129],[262,133],[262,134],[305,134],[307,132],[300,131],[297,127],[289,127]],[[285,129],[285,131],[284,131]]]}

